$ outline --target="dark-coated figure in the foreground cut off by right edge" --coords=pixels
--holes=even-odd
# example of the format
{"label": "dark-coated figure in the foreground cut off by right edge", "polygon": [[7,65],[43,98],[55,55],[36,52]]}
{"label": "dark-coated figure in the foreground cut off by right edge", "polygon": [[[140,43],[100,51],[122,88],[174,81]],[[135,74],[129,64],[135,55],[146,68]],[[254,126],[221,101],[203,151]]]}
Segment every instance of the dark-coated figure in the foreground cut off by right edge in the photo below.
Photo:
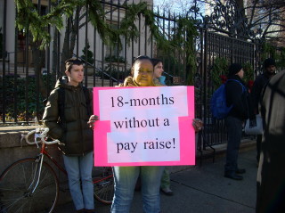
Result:
{"label": "dark-coated figure in the foreground cut off by right edge", "polygon": [[261,100],[264,124],[257,171],[256,213],[285,212],[285,71],[273,76]]}

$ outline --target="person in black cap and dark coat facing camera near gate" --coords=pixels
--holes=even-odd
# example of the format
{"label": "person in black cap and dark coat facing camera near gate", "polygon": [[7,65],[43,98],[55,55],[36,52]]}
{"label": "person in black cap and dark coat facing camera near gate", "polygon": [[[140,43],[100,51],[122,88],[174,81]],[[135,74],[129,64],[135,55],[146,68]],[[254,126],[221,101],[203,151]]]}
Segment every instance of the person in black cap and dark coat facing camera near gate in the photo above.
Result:
{"label": "person in black cap and dark coat facing camera near gate", "polygon": [[[264,73],[257,76],[255,83],[252,87],[252,92],[251,92],[251,98],[254,104],[254,110],[256,114],[259,114],[258,105],[261,100],[263,89],[265,85],[267,84],[267,82],[269,81],[269,79],[272,78],[275,74],[276,74],[275,61],[272,58],[266,59],[264,61]],[[259,158],[260,158],[261,139],[262,139],[262,135],[256,136],[257,165],[258,165]]]}

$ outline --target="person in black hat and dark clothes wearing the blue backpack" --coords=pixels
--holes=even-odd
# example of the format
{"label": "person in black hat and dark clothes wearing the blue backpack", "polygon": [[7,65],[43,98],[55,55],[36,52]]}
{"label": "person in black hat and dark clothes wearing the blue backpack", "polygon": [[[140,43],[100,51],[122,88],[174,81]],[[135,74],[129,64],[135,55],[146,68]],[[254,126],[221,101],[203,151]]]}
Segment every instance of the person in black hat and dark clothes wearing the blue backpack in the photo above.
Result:
{"label": "person in black hat and dark clothes wearing the blue backpack", "polygon": [[240,63],[232,63],[229,67],[228,80],[225,84],[226,105],[232,106],[225,118],[225,124],[228,132],[228,143],[226,150],[226,162],[224,165],[224,176],[234,180],[242,180],[240,174],[246,172],[244,168],[238,167],[238,155],[240,149],[240,140],[244,120],[251,117],[254,120],[248,89],[242,78],[244,71]]}

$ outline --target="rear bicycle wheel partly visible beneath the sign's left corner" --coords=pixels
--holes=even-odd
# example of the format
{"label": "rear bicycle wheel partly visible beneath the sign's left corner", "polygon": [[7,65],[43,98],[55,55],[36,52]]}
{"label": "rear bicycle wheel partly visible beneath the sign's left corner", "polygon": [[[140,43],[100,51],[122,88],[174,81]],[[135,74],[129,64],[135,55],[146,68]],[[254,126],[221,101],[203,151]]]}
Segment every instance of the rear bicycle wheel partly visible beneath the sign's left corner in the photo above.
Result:
{"label": "rear bicycle wheel partly visible beneath the sign's left corner", "polygon": [[111,204],[114,196],[114,177],[111,168],[102,168],[100,174],[95,176],[94,198],[104,204]]}

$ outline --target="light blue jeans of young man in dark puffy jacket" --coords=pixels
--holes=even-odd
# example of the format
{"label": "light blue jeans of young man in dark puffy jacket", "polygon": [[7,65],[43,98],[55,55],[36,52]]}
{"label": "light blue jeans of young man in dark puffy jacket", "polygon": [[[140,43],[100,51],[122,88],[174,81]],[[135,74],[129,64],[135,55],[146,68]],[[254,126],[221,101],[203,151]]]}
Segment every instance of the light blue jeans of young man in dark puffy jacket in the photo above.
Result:
{"label": "light blue jeans of young man in dark puffy jacket", "polygon": [[63,155],[63,160],[68,172],[69,190],[75,208],[77,210],[94,209],[93,152],[89,152],[85,156]]}

